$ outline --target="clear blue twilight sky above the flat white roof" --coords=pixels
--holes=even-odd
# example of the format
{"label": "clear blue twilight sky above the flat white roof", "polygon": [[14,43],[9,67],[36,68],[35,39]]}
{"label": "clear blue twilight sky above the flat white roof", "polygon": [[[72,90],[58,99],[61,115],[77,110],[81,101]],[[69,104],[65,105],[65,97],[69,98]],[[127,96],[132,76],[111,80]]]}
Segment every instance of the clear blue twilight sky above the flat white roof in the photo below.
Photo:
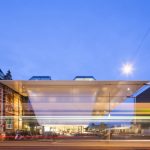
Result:
{"label": "clear blue twilight sky above the flat white roof", "polygon": [[137,53],[149,28],[149,0],[0,0],[0,68],[14,79],[150,80],[150,34]]}

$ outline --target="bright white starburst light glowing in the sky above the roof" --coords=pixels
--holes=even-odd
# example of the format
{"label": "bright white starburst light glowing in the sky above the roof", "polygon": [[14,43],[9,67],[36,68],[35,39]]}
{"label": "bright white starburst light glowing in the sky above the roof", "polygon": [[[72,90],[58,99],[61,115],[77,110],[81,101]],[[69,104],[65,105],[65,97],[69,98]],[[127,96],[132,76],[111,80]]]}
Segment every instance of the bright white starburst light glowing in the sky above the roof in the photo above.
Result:
{"label": "bright white starburst light glowing in the sky above the roof", "polygon": [[131,75],[134,71],[134,67],[133,67],[133,64],[131,63],[126,63],[126,64],[123,64],[122,67],[121,67],[121,71],[123,74],[125,75]]}

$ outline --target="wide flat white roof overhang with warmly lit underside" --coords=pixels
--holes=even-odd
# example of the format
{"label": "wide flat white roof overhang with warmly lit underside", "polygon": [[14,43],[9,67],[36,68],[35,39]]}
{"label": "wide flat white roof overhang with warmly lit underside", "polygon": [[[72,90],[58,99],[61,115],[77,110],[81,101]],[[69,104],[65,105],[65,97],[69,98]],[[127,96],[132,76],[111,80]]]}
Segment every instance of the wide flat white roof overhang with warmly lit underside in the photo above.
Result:
{"label": "wide flat white roof overhang with warmly lit underside", "polygon": [[[142,87],[145,84],[148,84],[148,81],[72,81],[72,80],[0,80],[0,83],[12,88],[16,92],[19,92],[20,94],[26,94],[25,90],[30,88],[49,88],[52,86],[93,86],[93,87],[109,87],[109,91],[112,91],[110,89],[111,87],[116,89],[119,92],[123,92],[124,89],[122,87],[124,86],[130,86],[134,87],[135,89],[138,89]],[[118,87],[120,87],[118,89]],[[135,92],[135,91],[133,91]],[[132,92],[132,93],[133,93]]]}

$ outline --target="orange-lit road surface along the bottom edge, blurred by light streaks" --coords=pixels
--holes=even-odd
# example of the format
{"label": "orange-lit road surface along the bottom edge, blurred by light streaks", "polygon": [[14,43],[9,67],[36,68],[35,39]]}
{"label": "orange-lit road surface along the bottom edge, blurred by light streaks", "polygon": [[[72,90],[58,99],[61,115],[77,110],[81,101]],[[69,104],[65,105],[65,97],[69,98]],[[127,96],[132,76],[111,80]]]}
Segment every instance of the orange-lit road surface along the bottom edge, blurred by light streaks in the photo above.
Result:
{"label": "orange-lit road surface along the bottom edge, blurred by light streaks", "polygon": [[150,150],[150,141],[5,141],[0,150]]}

